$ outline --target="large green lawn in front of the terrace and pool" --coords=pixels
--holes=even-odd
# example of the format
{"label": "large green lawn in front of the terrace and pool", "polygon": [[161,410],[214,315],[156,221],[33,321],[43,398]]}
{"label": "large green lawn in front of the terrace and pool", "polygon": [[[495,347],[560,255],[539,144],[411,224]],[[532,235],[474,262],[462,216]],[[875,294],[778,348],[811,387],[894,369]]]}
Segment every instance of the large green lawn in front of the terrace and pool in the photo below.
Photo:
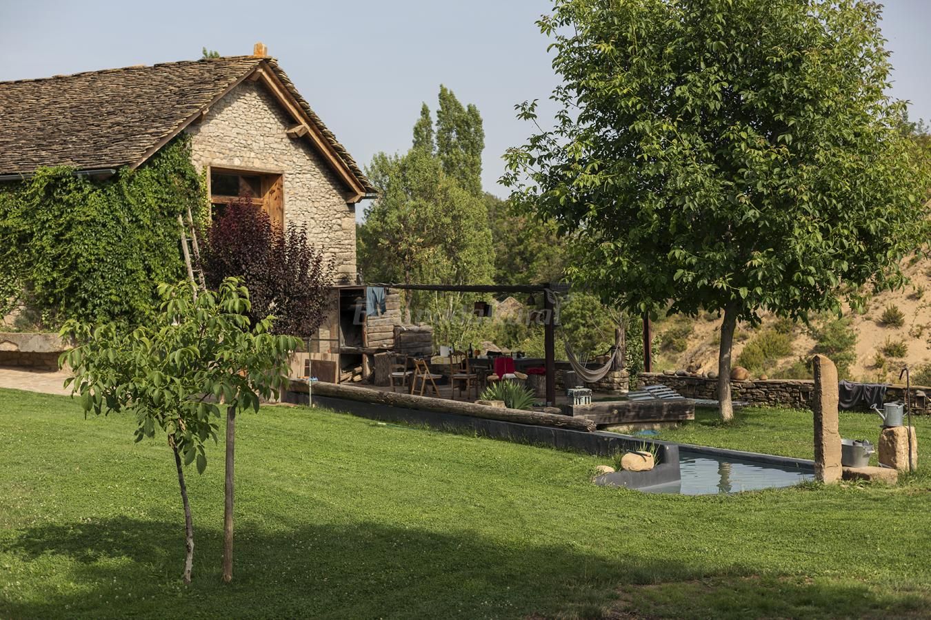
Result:
{"label": "large green lawn in front of the terrace and pool", "polygon": [[[931,609],[923,476],[897,489],[645,495],[591,484],[605,459],[287,407],[237,424],[232,584],[220,579],[223,446],[204,475],[191,468],[195,573],[183,587],[167,445],[134,444],[131,419],[85,420],[61,397],[0,390],[0,402],[3,618]],[[692,432],[762,447],[749,418],[742,445],[735,429]],[[790,430],[779,445],[804,455]]]}

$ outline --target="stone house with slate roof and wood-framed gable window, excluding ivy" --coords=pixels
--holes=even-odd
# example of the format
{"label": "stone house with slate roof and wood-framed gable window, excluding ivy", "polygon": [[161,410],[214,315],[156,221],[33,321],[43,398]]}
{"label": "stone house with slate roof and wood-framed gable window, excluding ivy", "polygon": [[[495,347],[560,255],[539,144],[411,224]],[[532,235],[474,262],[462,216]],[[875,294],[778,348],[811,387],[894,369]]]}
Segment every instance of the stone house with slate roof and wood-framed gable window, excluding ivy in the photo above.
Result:
{"label": "stone house with slate roof and wood-framed gable window, excluding ivy", "polygon": [[105,178],[187,132],[214,208],[248,187],[273,219],[305,224],[337,281],[356,284],[356,206],[375,190],[262,44],[251,56],[3,82],[0,110],[0,180],[50,165]]}

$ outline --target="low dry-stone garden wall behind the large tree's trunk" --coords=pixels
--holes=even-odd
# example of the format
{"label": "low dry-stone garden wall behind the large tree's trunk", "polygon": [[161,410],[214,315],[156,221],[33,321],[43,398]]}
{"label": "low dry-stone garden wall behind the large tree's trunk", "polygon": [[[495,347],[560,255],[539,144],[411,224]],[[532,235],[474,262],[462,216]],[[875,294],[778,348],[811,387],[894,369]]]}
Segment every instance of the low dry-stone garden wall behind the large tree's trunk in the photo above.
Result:
{"label": "low dry-stone garden wall behind the large tree's trunk", "polygon": [[[664,385],[674,389],[686,398],[717,400],[718,379],[694,375],[665,375],[661,373],[641,373],[637,376],[640,385]],[[808,409],[811,407],[815,382],[805,379],[767,379],[753,381],[732,381],[732,396],[735,401],[751,404],[775,405]],[[904,401],[905,386],[892,385],[886,389],[886,402]],[[924,394],[924,396],[922,395]],[[912,413],[931,415],[931,388],[912,386]]]}

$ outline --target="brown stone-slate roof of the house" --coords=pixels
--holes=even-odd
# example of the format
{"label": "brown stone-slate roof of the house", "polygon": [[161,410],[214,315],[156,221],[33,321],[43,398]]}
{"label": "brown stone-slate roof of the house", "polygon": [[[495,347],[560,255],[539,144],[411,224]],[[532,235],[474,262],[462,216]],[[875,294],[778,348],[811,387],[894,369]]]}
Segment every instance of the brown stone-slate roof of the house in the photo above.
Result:
{"label": "brown stone-slate roof of the house", "polygon": [[138,165],[256,65],[266,63],[365,191],[371,181],[275,59],[232,56],[0,82],[0,174]]}

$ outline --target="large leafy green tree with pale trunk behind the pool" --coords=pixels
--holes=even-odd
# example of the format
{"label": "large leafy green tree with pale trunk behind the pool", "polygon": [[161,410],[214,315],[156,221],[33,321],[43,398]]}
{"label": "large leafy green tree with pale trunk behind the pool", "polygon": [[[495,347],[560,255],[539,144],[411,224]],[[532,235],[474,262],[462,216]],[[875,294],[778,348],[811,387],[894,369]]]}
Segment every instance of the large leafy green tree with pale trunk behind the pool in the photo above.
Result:
{"label": "large leafy green tree with pale trunk behind the pool", "polygon": [[724,419],[737,321],[895,287],[926,242],[879,18],[857,0],[557,0],[538,22],[561,109],[507,153],[512,199],[578,236],[570,273],[602,297],[722,311]]}

